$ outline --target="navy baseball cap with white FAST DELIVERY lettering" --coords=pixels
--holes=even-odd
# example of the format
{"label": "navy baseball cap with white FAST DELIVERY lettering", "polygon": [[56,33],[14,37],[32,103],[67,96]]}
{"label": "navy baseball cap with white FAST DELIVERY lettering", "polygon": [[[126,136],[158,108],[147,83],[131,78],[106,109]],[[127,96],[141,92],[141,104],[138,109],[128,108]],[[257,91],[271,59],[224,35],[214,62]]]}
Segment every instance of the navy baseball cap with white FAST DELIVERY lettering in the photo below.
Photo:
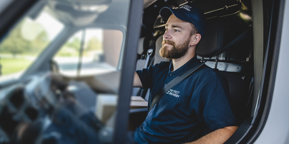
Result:
{"label": "navy baseball cap with white FAST DELIVERY lettering", "polygon": [[207,29],[206,17],[204,12],[199,7],[191,2],[188,2],[181,5],[178,9],[163,7],[160,10],[160,16],[166,20],[168,20],[172,13],[180,20],[193,23],[200,32],[202,36],[201,38],[204,37]]}

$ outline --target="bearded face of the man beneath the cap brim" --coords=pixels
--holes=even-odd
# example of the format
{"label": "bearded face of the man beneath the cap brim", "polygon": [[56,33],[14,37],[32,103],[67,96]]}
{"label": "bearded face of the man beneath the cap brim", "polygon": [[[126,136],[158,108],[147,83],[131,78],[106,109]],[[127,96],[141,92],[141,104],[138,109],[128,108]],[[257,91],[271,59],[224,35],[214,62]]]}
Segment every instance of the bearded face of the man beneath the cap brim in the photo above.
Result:
{"label": "bearded face of the man beneath the cap brim", "polygon": [[189,22],[171,15],[166,23],[160,56],[167,59],[178,59],[186,55],[191,41],[191,25]]}

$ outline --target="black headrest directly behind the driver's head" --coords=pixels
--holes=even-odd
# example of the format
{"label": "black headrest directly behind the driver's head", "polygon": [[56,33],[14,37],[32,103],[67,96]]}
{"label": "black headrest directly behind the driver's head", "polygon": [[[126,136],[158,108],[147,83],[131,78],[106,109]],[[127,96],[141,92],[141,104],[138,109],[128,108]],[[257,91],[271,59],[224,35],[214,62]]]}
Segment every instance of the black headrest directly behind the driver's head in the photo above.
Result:
{"label": "black headrest directly behind the driver's head", "polygon": [[227,24],[219,21],[208,24],[205,37],[199,42],[196,53],[198,56],[210,58],[227,44]]}

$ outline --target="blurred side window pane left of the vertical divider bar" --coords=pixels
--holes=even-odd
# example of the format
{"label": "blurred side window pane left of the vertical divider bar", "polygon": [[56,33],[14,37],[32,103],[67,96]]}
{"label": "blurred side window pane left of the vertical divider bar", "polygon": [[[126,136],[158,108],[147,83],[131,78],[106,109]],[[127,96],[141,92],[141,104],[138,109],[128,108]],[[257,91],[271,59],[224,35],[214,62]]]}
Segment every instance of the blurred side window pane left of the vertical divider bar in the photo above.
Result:
{"label": "blurred side window pane left of the vertical divider bar", "polygon": [[0,35],[1,142],[112,143],[129,5],[41,0]]}

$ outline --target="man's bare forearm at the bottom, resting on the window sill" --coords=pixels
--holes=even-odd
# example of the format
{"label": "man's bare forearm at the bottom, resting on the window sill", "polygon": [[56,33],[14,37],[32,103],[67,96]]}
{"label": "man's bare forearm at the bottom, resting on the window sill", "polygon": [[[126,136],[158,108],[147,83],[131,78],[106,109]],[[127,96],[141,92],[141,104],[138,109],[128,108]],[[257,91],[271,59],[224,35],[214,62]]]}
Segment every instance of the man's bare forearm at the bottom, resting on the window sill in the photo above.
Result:
{"label": "man's bare forearm at the bottom, resting on the window sill", "polygon": [[237,130],[238,126],[227,126],[224,128],[220,128],[218,130],[215,130],[200,139],[186,143],[186,144],[222,144],[225,143]]}

